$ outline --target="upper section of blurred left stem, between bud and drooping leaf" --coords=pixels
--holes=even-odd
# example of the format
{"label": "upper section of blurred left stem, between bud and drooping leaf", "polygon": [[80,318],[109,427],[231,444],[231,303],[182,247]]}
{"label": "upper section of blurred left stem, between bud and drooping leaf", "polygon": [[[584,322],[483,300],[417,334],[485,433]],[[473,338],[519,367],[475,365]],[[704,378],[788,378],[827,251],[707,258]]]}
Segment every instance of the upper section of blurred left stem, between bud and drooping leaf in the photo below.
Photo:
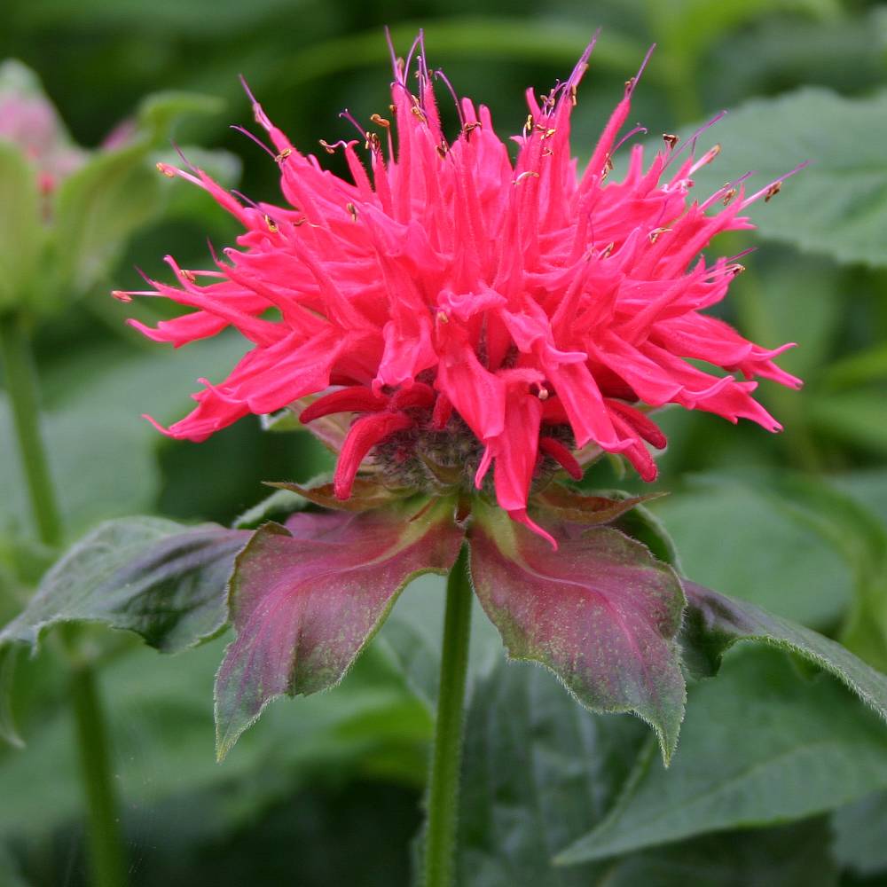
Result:
{"label": "upper section of blurred left stem, between bud and drooping leaf", "polygon": [[59,505],[40,431],[39,387],[34,358],[25,318],[21,315],[0,318],[0,357],[36,530],[46,545],[58,546],[61,541]]}

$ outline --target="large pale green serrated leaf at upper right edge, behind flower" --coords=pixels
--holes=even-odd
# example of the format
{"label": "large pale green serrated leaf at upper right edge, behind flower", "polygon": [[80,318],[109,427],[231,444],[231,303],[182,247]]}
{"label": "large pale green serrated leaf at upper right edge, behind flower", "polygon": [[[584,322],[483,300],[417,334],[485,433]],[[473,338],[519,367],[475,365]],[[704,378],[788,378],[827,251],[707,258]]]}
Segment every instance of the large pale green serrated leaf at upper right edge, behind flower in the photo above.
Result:
{"label": "large pale green serrated leaf at upper right edge, behind flower", "polygon": [[725,180],[756,170],[754,190],[801,161],[811,165],[766,205],[751,208],[761,236],[838,262],[887,265],[887,157],[878,129],[887,92],[844,98],[806,87],[779,98],[753,99],[704,136],[725,146],[695,175],[701,197]]}

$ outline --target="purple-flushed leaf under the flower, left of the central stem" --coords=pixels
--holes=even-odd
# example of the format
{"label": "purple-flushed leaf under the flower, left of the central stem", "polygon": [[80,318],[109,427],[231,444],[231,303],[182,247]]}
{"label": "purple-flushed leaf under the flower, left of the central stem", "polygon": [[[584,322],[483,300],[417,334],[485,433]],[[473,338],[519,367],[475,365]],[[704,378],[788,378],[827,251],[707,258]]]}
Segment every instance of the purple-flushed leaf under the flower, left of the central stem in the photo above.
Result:
{"label": "purple-flushed leaf under the flower, left of the central stem", "polygon": [[219,757],[272,699],[338,684],[404,585],[450,569],[461,543],[445,499],[420,514],[302,513],[257,530],[232,576],[237,638],[216,678]]}

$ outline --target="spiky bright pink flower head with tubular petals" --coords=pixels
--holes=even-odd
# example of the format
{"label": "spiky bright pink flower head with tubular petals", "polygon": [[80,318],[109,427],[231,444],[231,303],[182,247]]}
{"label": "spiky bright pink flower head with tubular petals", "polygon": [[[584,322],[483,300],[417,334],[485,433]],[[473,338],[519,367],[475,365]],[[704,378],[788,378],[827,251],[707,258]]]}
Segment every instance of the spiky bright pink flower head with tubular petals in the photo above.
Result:
{"label": "spiky bright pink flower head with tubular petals", "polygon": [[365,162],[358,140],[321,143],[344,153],[353,181],[294,148],[255,99],[282,206],[239,199],[200,169],[161,167],[210,192],[244,233],[211,271],[168,257],[177,285],[151,281],[142,293],[191,313],[155,328],[130,323],[176,346],[234,326],[253,346],[225,381],[201,380],[197,408],[161,430],[202,441],[248,413],[320,395],[303,422],[355,417],[339,498],[372,455],[369,467],[396,486],[487,483],[533,527],[534,479],[558,467],[581,475],[591,452],[621,453],[655,478],[647,444],[661,449],[665,437],[645,404],[779,430],[752,392],[757,377],[800,384],[773,363],[790,345],[763,349],[701,313],[742,269],[700,251],[752,227],[743,210],[780,183],[745,196],[740,181],[690,200],[695,170],[718,152],[694,159],[699,132],[666,136],[648,166],[633,146],[624,178],[607,181],[611,157],[640,131],[620,138],[637,77],[577,175],[569,123],[591,46],[567,82],[542,98],[527,91],[512,160],[490,112],[467,98],[457,101],[459,130],[443,130],[433,82],[452,90],[428,71],[421,37],[417,49],[418,94],[409,60],[395,61],[394,121],[373,114],[372,129],[358,125]]}

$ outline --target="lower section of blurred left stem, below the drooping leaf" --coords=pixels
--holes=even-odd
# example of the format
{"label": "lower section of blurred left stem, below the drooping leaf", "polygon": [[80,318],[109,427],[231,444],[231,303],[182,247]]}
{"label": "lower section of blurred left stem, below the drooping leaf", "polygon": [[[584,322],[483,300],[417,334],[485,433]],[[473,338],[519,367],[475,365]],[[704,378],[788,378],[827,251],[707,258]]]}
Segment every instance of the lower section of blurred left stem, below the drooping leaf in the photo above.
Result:
{"label": "lower section of blurred left stem, below the drooping leaf", "polygon": [[94,887],[122,887],[126,883],[126,870],[117,798],[111,781],[107,729],[96,674],[89,663],[75,664],[71,672],[71,704],[89,816],[90,883]]}

